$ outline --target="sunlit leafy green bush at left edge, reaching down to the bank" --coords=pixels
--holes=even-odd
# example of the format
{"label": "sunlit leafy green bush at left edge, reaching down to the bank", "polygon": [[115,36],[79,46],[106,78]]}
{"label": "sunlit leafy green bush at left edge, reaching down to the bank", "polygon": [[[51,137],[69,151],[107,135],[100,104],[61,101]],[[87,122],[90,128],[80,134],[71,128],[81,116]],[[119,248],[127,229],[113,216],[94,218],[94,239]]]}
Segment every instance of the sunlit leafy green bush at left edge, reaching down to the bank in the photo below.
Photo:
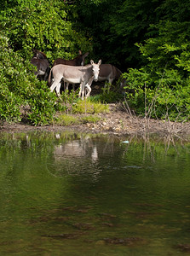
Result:
{"label": "sunlit leafy green bush at left edge, reaching down to the bank", "polygon": [[35,125],[47,125],[53,118],[56,97],[47,84],[38,81],[31,64],[9,48],[9,39],[0,37],[0,119],[21,119],[21,110]]}

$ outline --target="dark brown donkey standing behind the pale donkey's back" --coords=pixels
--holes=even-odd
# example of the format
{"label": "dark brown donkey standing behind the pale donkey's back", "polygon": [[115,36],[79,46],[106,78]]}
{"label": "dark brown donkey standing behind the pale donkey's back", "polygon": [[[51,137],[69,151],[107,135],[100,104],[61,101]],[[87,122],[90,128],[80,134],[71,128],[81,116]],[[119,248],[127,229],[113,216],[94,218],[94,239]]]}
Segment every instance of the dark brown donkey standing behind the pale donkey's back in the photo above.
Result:
{"label": "dark brown donkey standing behind the pale donkey's back", "polygon": [[61,58],[56,59],[53,63],[53,67],[58,64],[69,65],[69,66],[83,66],[84,60],[89,55],[89,52],[86,52],[84,55],[82,55],[82,51],[79,50],[78,54],[79,55],[76,58],[70,61],[64,60]]}

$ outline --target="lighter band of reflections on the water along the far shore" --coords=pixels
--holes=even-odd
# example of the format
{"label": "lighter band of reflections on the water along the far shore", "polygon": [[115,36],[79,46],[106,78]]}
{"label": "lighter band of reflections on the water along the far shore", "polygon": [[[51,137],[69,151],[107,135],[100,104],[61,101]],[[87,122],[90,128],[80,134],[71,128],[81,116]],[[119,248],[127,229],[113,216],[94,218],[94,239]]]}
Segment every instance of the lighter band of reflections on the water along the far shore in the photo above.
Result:
{"label": "lighter band of reflections on the water along the far shore", "polygon": [[[122,143],[125,140],[129,143]],[[104,160],[150,160],[155,162],[166,155],[179,155],[189,150],[189,137],[175,135],[154,136],[150,133],[128,137],[76,132],[37,132],[1,134],[0,153],[4,158],[14,160],[20,150],[32,157],[43,158],[51,174],[59,177],[65,174],[78,175],[91,172],[98,176]],[[122,156],[123,155],[123,156]],[[107,157],[108,156],[108,157]],[[109,163],[108,163],[109,164]]]}

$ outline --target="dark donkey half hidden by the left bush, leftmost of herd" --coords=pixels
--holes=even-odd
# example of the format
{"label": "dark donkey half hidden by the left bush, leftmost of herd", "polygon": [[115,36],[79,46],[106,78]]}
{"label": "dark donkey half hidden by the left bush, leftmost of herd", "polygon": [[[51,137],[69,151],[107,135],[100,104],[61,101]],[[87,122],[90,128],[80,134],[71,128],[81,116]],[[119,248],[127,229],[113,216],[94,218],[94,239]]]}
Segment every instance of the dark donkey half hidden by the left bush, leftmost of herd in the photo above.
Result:
{"label": "dark donkey half hidden by the left bush, leftmost of herd", "polygon": [[37,49],[33,49],[33,53],[34,55],[32,57],[31,63],[37,67],[37,71],[34,73],[36,74],[37,79],[46,81],[50,71],[49,61],[43,52]]}

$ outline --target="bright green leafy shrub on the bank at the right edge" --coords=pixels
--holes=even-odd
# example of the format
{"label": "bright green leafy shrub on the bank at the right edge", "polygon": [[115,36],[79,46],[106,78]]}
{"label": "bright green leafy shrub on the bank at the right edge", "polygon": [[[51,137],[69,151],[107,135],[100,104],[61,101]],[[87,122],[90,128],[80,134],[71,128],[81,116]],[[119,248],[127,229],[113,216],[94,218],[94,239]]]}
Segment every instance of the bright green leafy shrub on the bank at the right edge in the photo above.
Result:
{"label": "bright green leafy shrub on the bank at the right edge", "polygon": [[153,117],[189,119],[190,44],[179,34],[180,27],[176,22],[161,22],[159,37],[138,45],[147,66],[125,74],[126,96],[137,113],[144,108]]}

